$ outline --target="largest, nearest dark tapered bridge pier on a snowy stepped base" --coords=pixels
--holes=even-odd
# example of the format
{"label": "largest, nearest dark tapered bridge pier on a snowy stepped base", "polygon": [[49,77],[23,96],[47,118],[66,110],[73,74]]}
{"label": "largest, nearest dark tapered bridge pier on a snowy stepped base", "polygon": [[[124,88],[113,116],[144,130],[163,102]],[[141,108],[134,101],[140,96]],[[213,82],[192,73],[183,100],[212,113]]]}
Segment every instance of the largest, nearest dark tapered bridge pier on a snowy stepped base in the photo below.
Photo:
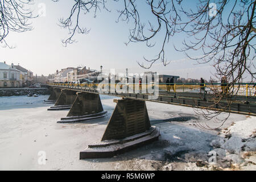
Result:
{"label": "largest, nearest dark tapered bridge pier on a snowy stepped base", "polygon": [[159,128],[151,127],[144,101],[122,98],[117,103],[100,141],[80,152],[80,159],[110,158],[158,140]]}

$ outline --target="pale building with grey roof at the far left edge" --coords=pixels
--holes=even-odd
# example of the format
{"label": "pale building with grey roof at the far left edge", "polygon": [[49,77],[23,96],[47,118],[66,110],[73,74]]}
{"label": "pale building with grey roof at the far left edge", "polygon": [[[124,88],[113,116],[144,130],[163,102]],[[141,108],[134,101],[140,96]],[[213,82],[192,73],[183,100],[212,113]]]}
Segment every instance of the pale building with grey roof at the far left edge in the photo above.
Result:
{"label": "pale building with grey roof at the far left edge", "polygon": [[22,87],[22,73],[14,67],[0,62],[0,88]]}

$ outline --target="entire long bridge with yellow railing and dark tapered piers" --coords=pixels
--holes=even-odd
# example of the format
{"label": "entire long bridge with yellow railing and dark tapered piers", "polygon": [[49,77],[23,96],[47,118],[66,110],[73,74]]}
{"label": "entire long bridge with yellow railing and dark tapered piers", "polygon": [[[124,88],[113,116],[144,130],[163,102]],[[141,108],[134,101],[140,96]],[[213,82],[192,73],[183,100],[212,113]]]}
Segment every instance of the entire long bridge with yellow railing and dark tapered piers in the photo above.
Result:
{"label": "entire long bridge with yellow railing and dark tapered piers", "polygon": [[[100,94],[121,97],[100,141],[80,152],[80,159],[109,158],[158,140],[158,127],[151,126],[145,101],[197,107],[214,111],[256,115],[255,87],[191,84],[48,84],[48,110],[69,109],[59,123],[85,122],[105,117]],[[93,141],[92,141],[93,142]]]}

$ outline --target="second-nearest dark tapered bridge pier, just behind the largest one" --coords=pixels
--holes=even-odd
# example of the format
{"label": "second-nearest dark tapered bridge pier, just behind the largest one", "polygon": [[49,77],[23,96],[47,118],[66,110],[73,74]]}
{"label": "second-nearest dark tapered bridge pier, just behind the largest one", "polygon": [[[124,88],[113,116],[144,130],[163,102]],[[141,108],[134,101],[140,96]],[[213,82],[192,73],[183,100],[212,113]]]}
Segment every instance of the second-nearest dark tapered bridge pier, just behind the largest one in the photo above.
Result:
{"label": "second-nearest dark tapered bridge pier, just behind the largest one", "polygon": [[59,123],[81,122],[105,117],[107,111],[103,110],[99,94],[82,92],[76,94],[76,100],[67,117],[61,118],[61,121],[58,121]]}

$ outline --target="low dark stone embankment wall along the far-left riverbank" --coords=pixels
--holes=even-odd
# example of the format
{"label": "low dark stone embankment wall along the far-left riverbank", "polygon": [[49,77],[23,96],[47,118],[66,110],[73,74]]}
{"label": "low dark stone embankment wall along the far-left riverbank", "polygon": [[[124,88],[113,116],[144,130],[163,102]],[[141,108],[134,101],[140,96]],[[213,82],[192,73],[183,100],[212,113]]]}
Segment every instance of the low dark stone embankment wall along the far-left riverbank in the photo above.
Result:
{"label": "low dark stone embankment wall along the far-left riverbank", "polygon": [[48,88],[13,88],[0,89],[0,97],[2,96],[26,96],[28,94],[49,95]]}

